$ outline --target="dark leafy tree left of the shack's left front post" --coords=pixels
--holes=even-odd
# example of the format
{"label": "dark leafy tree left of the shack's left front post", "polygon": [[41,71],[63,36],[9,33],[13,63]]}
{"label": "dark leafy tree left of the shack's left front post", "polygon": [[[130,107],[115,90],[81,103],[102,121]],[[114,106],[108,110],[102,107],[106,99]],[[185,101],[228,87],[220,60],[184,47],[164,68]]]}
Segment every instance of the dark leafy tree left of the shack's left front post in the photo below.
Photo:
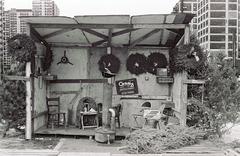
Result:
{"label": "dark leafy tree left of the shack's left front post", "polygon": [[[8,75],[25,74],[25,64],[8,72]],[[0,98],[0,114],[9,122],[9,128],[19,128],[25,125],[26,89],[24,81],[3,81],[4,94]]]}

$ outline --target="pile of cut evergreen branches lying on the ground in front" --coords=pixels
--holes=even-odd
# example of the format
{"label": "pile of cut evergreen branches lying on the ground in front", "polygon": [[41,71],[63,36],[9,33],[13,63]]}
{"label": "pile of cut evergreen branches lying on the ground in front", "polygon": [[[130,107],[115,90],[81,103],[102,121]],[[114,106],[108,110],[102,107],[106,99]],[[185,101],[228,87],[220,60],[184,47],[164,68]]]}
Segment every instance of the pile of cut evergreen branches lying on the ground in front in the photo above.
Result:
{"label": "pile of cut evergreen branches lying on the ground in front", "polygon": [[158,129],[140,129],[131,133],[123,142],[128,153],[160,154],[166,150],[192,145],[205,133],[193,127],[177,125]]}

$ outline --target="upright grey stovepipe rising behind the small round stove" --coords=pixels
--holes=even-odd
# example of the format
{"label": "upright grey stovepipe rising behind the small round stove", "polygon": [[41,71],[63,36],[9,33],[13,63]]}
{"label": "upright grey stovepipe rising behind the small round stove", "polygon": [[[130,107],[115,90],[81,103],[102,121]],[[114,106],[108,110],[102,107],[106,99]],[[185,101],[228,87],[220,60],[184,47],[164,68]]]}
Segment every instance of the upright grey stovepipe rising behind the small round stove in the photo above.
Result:
{"label": "upright grey stovepipe rising behind the small round stove", "polygon": [[112,107],[112,84],[103,84],[103,115],[102,122],[104,127],[110,127],[110,115],[108,110]]}

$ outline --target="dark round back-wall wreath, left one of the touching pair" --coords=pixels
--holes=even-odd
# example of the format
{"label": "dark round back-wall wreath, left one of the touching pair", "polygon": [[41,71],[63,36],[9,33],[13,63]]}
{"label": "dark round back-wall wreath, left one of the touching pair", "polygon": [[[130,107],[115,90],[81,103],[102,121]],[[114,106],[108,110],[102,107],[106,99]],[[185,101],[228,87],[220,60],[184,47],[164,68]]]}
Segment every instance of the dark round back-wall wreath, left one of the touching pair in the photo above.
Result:
{"label": "dark round back-wall wreath, left one of the touching pair", "polygon": [[127,59],[127,70],[132,74],[143,74],[147,71],[147,58],[143,54],[131,54]]}

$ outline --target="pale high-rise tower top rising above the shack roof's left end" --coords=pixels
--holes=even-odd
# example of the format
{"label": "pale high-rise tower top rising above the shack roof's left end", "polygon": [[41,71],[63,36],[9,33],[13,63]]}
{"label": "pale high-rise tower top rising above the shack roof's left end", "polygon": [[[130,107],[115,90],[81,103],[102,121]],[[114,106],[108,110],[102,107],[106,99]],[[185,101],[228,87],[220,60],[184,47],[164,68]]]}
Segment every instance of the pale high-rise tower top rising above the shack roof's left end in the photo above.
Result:
{"label": "pale high-rise tower top rising above the shack roof's left end", "polygon": [[59,9],[53,0],[33,0],[33,16],[59,16]]}

